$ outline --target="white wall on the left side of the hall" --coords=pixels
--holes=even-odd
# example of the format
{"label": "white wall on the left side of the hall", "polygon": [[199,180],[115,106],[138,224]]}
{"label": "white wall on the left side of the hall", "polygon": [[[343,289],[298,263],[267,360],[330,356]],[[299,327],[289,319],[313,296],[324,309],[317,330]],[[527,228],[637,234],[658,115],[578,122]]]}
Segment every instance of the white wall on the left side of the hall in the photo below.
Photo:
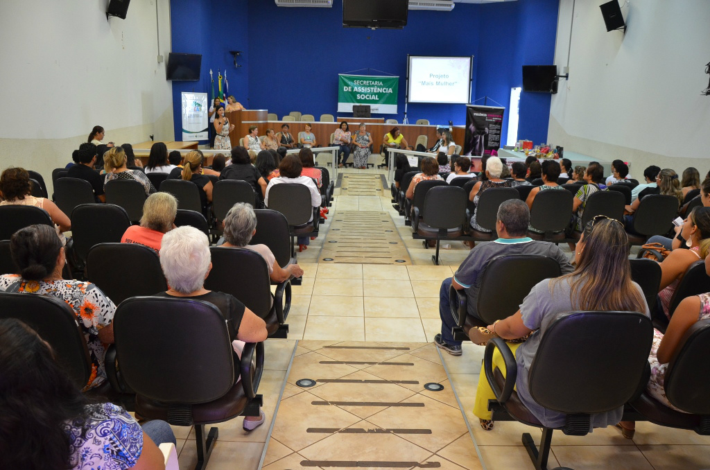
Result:
{"label": "white wall on the left side of the hall", "polygon": [[[107,21],[108,0],[0,1],[0,166],[41,170],[71,160],[95,125],[106,141],[173,134],[168,0],[132,1]],[[172,139],[171,139],[172,140]]]}

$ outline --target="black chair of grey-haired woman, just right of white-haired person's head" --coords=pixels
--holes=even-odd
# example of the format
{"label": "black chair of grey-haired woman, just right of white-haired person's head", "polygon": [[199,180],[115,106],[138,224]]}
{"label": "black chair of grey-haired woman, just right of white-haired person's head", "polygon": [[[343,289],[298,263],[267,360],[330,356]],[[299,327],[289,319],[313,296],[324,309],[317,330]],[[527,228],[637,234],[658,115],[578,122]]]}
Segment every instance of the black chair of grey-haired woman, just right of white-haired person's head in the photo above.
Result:
{"label": "black chair of grey-haired woman, just right of white-haired person's head", "polygon": [[209,253],[212,270],[204,280],[204,288],[234,295],[266,322],[269,337],[285,338],[288,334],[286,318],[291,308],[290,280],[278,283],[272,295],[268,266],[259,253],[224,246],[212,246]]}

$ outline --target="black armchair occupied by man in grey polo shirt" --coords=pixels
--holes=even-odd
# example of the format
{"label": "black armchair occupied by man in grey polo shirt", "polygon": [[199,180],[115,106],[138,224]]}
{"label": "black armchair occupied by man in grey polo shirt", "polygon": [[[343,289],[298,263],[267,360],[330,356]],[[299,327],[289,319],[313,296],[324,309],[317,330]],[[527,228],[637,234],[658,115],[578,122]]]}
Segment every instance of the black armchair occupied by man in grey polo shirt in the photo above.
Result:
{"label": "black armchair occupied by man in grey polo shirt", "polygon": [[478,317],[469,315],[465,289],[456,290],[453,285],[449,289],[451,315],[457,324],[452,328],[454,339],[468,341],[471,327],[486,327],[496,320],[515,314],[537,283],[559,278],[561,273],[559,263],[550,256],[518,254],[491,259],[482,274],[476,300]]}

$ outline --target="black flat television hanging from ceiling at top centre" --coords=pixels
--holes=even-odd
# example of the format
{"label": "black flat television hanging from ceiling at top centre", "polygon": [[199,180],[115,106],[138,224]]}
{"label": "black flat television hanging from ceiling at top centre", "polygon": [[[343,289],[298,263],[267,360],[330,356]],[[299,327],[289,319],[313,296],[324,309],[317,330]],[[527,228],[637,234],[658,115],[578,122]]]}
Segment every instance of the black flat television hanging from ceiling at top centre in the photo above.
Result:
{"label": "black flat television hanging from ceiling at top centre", "polygon": [[343,0],[346,28],[404,28],[409,0]]}

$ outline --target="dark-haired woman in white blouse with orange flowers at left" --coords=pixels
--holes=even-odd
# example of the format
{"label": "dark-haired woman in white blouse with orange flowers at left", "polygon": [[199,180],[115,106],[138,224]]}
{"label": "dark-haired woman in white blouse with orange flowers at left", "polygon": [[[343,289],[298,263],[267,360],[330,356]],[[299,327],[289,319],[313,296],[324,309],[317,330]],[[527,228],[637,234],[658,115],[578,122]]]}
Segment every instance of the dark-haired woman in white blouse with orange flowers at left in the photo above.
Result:
{"label": "dark-haired woman in white blouse with orange flowers at left", "polygon": [[62,278],[67,261],[65,248],[48,225],[31,225],[16,231],[10,239],[10,253],[20,273],[0,275],[0,290],[48,295],[67,302],[89,347],[92,371],[84,390],[104,383],[104,344],[114,342],[114,302],[92,283]]}

